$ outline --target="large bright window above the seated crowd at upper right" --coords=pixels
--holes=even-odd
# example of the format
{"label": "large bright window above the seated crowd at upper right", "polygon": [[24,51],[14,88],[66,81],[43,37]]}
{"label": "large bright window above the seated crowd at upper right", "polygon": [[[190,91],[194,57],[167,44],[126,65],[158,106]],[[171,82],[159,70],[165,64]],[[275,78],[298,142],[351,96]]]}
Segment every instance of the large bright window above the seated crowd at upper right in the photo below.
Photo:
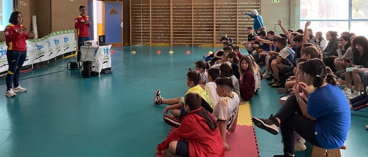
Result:
{"label": "large bright window above the seated crowd at upper right", "polygon": [[301,29],[308,20],[313,33],[333,30],[368,37],[367,0],[300,0]]}

